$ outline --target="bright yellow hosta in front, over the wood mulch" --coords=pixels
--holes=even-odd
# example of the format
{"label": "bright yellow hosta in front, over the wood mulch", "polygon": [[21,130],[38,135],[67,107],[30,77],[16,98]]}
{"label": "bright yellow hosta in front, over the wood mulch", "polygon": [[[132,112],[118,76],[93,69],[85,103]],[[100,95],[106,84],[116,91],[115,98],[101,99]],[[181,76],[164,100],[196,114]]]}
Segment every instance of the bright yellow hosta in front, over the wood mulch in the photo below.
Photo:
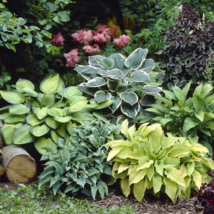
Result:
{"label": "bright yellow hosta in front, over the wood mulch", "polygon": [[212,159],[206,155],[207,148],[191,143],[185,138],[165,136],[160,124],[142,124],[128,128],[124,121],[121,132],[124,140],[114,140],[106,145],[112,150],[108,161],[114,162],[113,177],[120,179],[127,197],[133,191],[141,202],[145,191],[159,196],[166,193],[175,202],[180,197],[190,197],[191,190],[198,190],[209,183],[209,169],[214,169]]}

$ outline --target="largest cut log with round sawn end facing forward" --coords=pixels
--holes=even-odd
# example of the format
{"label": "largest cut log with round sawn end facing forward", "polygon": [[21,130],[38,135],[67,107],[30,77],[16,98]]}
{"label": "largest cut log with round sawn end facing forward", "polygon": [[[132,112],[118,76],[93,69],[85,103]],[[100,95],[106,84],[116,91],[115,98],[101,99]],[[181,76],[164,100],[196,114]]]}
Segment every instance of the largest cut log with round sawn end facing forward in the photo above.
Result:
{"label": "largest cut log with round sawn end facing forward", "polygon": [[28,183],[36,176],[36,161],[25,149],[17,145],[2,149],[2,163],[11,183]]}

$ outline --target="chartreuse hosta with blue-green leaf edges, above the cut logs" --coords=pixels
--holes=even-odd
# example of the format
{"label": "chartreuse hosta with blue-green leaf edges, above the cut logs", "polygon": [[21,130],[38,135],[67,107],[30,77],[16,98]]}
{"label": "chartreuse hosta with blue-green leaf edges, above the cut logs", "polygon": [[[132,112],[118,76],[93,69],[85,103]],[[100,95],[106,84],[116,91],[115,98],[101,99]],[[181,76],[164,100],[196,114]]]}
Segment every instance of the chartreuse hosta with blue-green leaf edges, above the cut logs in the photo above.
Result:
{"label": "chartreuse hosta with blue-green leaf edges, above the cut logs", "polygon": [[44,153],[44,147],[55,147],[60,137],[69,138],[76,123],[93,120],[86,97],[77,87],[64,87],[59,75],[50,75],[36,92],[32,82],[20,79],[16,91],[0,91],[10,103],[0,115],[4,125],[1,135],[6,145],[34,142],[36,149]]}

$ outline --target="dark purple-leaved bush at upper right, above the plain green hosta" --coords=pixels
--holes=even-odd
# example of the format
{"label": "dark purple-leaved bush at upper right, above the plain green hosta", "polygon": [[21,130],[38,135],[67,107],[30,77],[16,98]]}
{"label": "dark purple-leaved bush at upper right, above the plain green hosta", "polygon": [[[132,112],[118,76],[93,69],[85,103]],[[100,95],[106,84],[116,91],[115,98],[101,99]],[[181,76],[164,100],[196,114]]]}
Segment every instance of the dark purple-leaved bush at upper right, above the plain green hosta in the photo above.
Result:
{"label": "dark purple-leaved bush at upper right, above the plain green hosta", "polygon": [[204,82],[206,60],[213,54],[214,22],[205,24],[194,8],[184,8],[163,35],[166,44],[158,53],[165,71],[164,85],[170,88],[183,87],[189,80]]}

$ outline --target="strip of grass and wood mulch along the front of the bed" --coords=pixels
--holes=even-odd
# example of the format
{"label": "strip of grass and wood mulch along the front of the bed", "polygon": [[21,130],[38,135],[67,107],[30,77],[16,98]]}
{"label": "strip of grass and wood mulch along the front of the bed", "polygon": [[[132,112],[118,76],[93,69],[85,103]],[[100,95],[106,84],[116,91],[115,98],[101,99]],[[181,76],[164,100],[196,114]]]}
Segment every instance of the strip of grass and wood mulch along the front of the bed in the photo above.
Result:
{"label": "strip of grass and wood mulch along the front of the bed", "polygon": [[35,183],[26,187],[0,183],[0,204],[0,214],[195,214],[203,211],[203,207],[195,206],[195,197],[172,204],[166,198],[156,200],[146,195],[138,203],[132,196],[125,198],[120,192],[112,191],[104,200],[91,201],[65,194],[54,197],[44,190],[38,191]]}

